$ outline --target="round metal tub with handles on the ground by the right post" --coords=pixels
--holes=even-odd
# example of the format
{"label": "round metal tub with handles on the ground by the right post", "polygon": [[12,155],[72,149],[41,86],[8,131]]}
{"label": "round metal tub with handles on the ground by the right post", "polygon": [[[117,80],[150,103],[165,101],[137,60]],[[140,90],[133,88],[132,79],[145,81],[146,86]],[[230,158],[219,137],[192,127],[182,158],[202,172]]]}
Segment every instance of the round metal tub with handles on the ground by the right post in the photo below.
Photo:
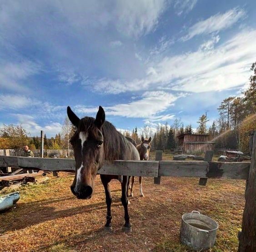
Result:
{"label": "round metal tub with handles on the ground by the right post", "polygon": [[182,215],[181,242],[197,251],[205,251],[214,246],[218,223],[210,217],[192,211]]}

